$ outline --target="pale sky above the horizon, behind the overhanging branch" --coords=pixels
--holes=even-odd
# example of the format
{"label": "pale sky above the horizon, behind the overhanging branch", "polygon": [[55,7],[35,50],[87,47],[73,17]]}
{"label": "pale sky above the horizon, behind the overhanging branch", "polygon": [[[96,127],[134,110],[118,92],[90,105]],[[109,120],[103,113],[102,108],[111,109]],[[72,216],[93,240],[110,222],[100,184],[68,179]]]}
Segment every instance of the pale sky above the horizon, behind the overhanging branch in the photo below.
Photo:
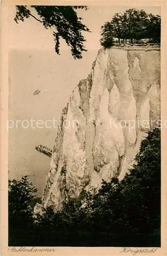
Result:
{"label": "pale sky above the horizon, behind the overhanging branch", "polygon": [[[87,11],[78,10],[79,16],[83,18],[83,23],[92,31],[92,33],[84,33],[87,40],[85,46],[88,50],[100,48],[100,32],[101,26],[105,22],[112,19],[116,12],[124,12],[126,9],[133,7],[124,6],[89,6]],[[160,8],[154,6],[135,7],[136,9],[144,9],[148,13],[159,14]],[[15,15],[15,7],[9,7],[9,33],[10,47],[17,49],[25,48],[53,48],[54,41],[52,30],[46,30],[43,25],[30,17],[22,23],[16,24],[13,20]],[[62,44],[62,49],[67,49],[65,44]]]}

